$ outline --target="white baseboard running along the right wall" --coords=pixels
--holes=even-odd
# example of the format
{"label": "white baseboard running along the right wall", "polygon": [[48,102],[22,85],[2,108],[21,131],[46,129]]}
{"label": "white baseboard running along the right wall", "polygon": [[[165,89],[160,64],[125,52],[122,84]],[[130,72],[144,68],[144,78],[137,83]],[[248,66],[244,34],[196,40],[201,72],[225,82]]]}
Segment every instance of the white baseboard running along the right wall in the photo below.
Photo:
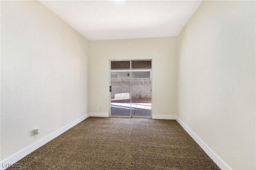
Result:
{"label": "white baseboard running along the right wall", "polygon": [[176,121],[188,132],[188,134],[196,141],[196,143],[210,156],[210,158],[220,167],[222,170],[230,170],[229,168],[196,134],[190,130],[178,117]]}

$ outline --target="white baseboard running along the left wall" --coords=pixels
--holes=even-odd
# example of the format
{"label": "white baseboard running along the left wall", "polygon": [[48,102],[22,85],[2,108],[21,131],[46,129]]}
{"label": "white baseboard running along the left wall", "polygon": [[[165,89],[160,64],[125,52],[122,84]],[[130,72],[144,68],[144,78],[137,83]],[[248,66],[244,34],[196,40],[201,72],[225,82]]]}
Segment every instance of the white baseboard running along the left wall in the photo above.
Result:
{"label": "white baseboard running along the left wall", "polygon": [[30,154],[34,150],[40,148],[41,146],[43,146],[44,144],[46,144],[50,140],[56,138],[57,136],[59,136],[63,132],[66,132],[68,129],[74,127],[75,125],[82,122],[84,119],[86,119],[88,117],[89,117],[89,114],[86,114],[86,115],[76,119],[75,121],[69,123],[68,125],[56,130],[55,132],[49,134],[48,136],[45,136],[44,138],[42,138],[42,139],[38,140],[37,142],[31,144],[30,146],[24,148],[20,152],[17,152],[16,154],[10,156],[9,158],[3,160],[1,162],[1,168],[0,169],[4,170],[4,169],[8,168],[8,166],[10,166],[10,165],[14,164],[15,162],[17,162],[18,160],[24,158],[25,156],[27,156],[28,154]]}

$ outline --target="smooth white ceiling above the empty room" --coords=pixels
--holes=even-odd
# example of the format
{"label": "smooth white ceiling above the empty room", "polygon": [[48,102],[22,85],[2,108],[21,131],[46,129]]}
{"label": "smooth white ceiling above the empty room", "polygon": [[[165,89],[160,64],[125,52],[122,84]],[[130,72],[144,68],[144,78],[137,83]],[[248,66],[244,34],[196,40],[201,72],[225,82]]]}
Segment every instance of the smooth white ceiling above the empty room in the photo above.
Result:
{"label": "smooth white ceiling above the empty room", "polygon": [[40,0],[88,40],[178,36],[202,0]]}

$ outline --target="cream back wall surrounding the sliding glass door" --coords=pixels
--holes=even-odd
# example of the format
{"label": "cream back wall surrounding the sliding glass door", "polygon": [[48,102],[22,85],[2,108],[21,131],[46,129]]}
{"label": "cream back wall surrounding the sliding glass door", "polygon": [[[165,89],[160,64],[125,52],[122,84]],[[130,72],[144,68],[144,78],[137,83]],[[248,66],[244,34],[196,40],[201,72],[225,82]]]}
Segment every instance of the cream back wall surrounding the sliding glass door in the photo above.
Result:
{"label": "cream back wall surrounding the sliding glass door", "polygon": [[109,113],[110,59],[152,59],[152,114],[176,114],[176,38],[92,41],[89,46],[90,113]]}

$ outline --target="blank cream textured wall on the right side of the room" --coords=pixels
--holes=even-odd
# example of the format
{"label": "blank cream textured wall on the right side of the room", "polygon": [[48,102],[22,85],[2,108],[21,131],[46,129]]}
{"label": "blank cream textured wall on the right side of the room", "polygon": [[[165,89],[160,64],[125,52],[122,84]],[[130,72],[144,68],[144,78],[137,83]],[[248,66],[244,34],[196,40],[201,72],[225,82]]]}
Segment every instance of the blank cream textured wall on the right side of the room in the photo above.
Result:
{"label": "blank cream textured wall on the right side of the room", "polygon": [[178,36],[177,116],[232,169],[256,169],[255,21],[255,1],[204,1]]}

